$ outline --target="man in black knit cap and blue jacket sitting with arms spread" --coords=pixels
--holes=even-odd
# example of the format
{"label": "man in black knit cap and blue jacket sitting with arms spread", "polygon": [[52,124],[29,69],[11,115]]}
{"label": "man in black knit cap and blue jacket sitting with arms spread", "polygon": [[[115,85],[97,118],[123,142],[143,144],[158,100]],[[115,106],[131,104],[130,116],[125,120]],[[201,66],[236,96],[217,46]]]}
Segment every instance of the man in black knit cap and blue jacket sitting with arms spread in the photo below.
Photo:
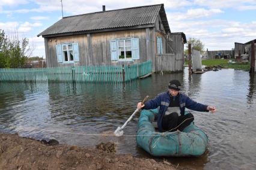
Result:
{"label": "man in black knit cap and blue jacket sitting with arms spread", "polygon": [[171,80],[169,81],[168,92],[161,93],[153,100],[145,102],[144,105],[141,102],[137,105],[137,108],[146,110],[160,107],[157,114],[157,126],[160,132],[174,132],[176,130],[182,132],[186,126],[190,125],[194,120],[194,116],[191,113],[184,114],[185,108],[195,111],[216,112],[214,106],[195,102],[184,93],[180,93],[180,89],[180,82]]}

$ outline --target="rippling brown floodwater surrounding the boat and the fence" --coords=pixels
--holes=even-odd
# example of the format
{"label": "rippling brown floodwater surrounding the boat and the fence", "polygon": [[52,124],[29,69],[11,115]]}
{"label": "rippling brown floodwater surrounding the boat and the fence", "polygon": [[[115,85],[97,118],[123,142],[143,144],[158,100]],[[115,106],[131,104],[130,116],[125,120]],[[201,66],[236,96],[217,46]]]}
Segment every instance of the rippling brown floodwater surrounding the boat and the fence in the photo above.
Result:
{"label": "rippling brown floodwater surrounding the boat and the fence", "polygon": [[111,134],[135,111],[146,95],[167,90],[169,80],[183,84],[183,92],[197,102],[215,105],[217,113],[191,111],[195,124],[209,136],[200,157],[167,157],[174,165],[195,169],[256,168],[256,75],[234,69],[195,74],[154,74],[123,84],[0,83],[0,132],[35,139],[57,139],[62,144],[95,146],[117,142],[118,153],[150,157],[136,146],[139,114],[124,128],[124,136]]}

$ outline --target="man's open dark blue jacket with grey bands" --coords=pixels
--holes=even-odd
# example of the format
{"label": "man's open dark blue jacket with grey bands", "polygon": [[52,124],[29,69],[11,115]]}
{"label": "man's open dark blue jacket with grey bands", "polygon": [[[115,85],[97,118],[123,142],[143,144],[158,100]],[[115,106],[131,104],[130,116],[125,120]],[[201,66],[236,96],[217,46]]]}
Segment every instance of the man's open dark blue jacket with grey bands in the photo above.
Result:
{"label": "man's open dark blue jacket with grey bands", "polygon": [[[207,105],[200,104],[198,102],[193,101],[190,99],[187,95],[184,93],[178,93],[178,98],[180,100],[180,114],[184,115],[185,108],[188,108],[190,110],[195,111],[207,111]],[[171,96],[169,95],[169,92],[162,93],[158,96],[156,96],[155,99],[145,102],[145,106],[143,109],[154,109],[160,106],[159,113],[157,115],[157,126],[160,132],[163,131],[162,129],[162,120],[163,115],[165,114],[165,111],[169,107],[169,103],[171,101]]]}

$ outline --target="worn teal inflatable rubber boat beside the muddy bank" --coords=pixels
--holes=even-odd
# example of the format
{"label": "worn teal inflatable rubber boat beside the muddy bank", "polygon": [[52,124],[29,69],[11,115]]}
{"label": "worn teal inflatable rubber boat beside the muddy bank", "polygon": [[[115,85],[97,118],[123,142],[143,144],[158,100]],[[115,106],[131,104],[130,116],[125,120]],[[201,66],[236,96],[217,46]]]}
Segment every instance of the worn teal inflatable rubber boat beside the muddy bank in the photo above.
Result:
{"label": "worn teal inflatable rubber boat beside the muddy bank", "polygon": [[157,109],[142,110],[136,142],[153,156],[201,156],[206,151],[208,137],[192,122],[183,132],[156,132],[153,125]]}

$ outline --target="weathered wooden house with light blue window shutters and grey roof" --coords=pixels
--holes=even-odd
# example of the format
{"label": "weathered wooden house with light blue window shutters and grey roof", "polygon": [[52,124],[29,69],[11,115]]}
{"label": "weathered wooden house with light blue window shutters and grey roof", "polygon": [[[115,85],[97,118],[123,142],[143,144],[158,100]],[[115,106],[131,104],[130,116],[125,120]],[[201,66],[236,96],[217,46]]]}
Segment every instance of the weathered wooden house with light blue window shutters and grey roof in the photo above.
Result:
{"label": "weathered wooden house with light blue window shutters and grey roof", "polygon": [[169,71],[183,70],[186,36],[171,34],[163,4],[109,11],[103,6],[100,12],[63,17],[39,36],[44,38],[47,67],[151,60],[153,71],[158,71],[163,61],[157,57],[162,57],[174,59],[167,63],[174,69]]}

